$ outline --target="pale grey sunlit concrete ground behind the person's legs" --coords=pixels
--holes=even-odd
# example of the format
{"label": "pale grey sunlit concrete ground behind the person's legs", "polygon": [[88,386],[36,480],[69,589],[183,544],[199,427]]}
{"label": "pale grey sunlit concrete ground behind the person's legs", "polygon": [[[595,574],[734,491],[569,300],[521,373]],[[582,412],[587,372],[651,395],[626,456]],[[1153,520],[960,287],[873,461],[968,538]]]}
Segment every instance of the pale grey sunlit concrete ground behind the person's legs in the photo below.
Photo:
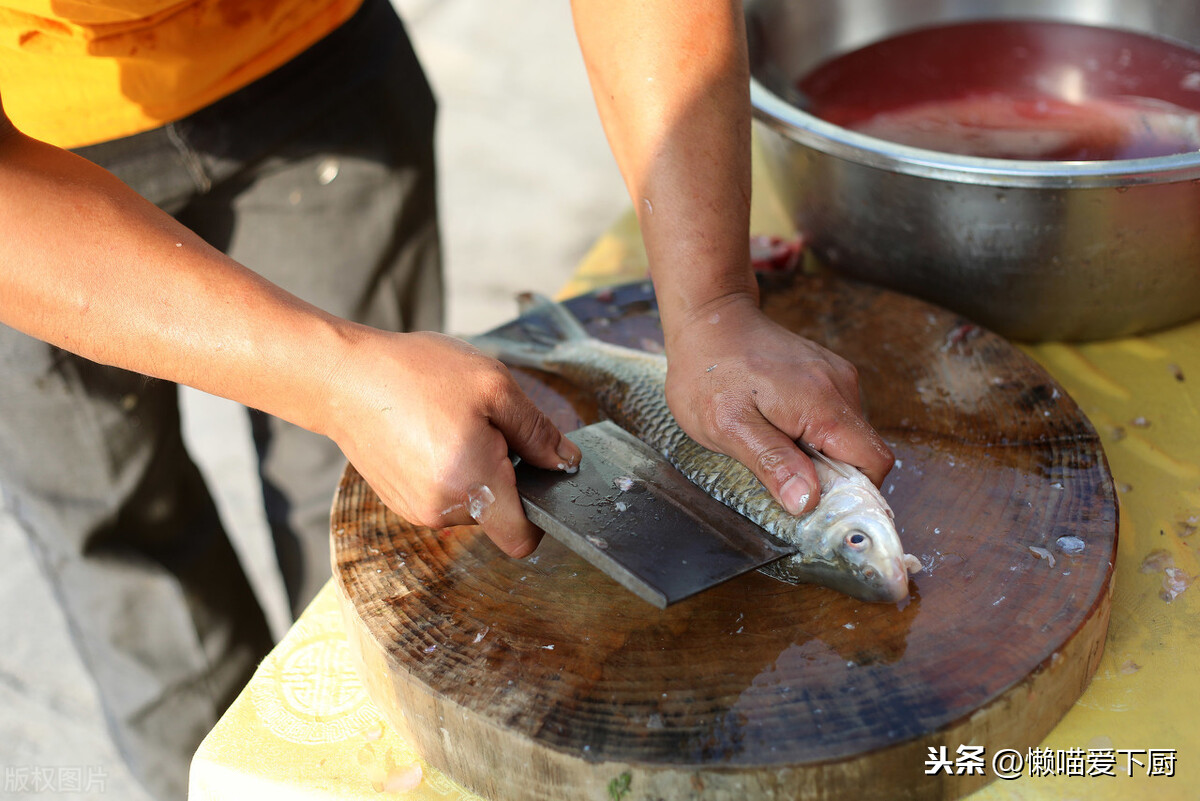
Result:
{"label": "pale grey sunlit concrete ground behind the person's legs", "polygon": [[[628,205],[574,40],[569,5],[394,0],[440,101],[451,333],[552,293]],[[258,510],[241,408],[187,391],[185,435],[277,633],[290,622]],[[0,507],[0,797],[144,794],[108,740],[95,688],[42,568]],[[90,790],[74,790],[91,783]]]}

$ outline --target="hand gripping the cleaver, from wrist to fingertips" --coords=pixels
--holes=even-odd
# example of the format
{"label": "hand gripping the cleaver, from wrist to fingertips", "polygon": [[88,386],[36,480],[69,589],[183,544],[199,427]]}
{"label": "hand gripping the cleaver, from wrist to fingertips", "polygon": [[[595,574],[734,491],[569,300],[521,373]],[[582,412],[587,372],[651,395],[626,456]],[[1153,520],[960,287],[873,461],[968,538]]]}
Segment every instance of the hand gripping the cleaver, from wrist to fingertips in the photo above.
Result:
{"label": "hand gripping the cleaver, from wrist to fingertips", "polygon": [[536,548],[509,453],[565,470],[580,450],[500,362],[452,337],[368,331],[331,385],[328,433],[389,508],[433,528],[474,520],[510,556]]}

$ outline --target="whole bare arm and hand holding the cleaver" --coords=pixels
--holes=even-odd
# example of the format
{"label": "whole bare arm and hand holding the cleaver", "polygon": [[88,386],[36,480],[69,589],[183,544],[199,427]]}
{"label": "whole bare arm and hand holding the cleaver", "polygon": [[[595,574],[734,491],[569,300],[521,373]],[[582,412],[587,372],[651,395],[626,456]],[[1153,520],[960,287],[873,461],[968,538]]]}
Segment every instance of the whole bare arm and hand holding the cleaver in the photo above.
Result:
{"label": "whole bare arm and hand holding the cleaver", "polygon": [[515,556],[541,532],[510,453],[546,469],[580,462],[494,359],[325,314],[95,164],[14,133],[2,108],[0,323],[325,434],[404,519],[479,523]]}

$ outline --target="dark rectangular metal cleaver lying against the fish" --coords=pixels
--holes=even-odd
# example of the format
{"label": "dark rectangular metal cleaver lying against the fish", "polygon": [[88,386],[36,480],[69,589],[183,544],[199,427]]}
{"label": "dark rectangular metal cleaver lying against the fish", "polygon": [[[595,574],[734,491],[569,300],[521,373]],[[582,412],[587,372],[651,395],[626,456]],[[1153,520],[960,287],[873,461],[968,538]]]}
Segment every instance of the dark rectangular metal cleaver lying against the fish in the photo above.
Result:
{"label": "dark rectangular metal cleaver lying against the fish", "polygon": [[517,463],[526,516],[658,608],[796,553],[616,423],[566,436],[583,452],[577,472]]}

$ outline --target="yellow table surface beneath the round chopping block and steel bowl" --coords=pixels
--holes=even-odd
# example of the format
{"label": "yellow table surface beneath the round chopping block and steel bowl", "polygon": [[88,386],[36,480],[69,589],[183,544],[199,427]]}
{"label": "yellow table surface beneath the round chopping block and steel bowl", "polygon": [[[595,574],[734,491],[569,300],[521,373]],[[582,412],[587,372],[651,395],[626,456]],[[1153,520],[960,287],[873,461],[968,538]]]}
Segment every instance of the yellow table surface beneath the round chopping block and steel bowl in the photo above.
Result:
{"label": "yellow table surface beneath the round chopping block and steel bowl", "polygon": [[[769,197],[756,197],[754,233],[788,235],[782,219]],[[644,277],[636,221],[626,215],[562,295]],[[1012,753],[998,757],[1007,743],[984,742],[948,743],[946,759],[931,755],[925,769],[973,770],[959,746],[982,746],[986,776],[1015,777],[997,778],[972,801],[1200,797],[1200,586],[1190,588],[1200,572],[1200,323],[1024,349],[1091,418],[1117,482],[1104,658],[1040,748],[1019,754],[1020,766]],[[355,675],[329,585],[202,743],[191,799],[379,797],[479,799],[384,723]]]}

